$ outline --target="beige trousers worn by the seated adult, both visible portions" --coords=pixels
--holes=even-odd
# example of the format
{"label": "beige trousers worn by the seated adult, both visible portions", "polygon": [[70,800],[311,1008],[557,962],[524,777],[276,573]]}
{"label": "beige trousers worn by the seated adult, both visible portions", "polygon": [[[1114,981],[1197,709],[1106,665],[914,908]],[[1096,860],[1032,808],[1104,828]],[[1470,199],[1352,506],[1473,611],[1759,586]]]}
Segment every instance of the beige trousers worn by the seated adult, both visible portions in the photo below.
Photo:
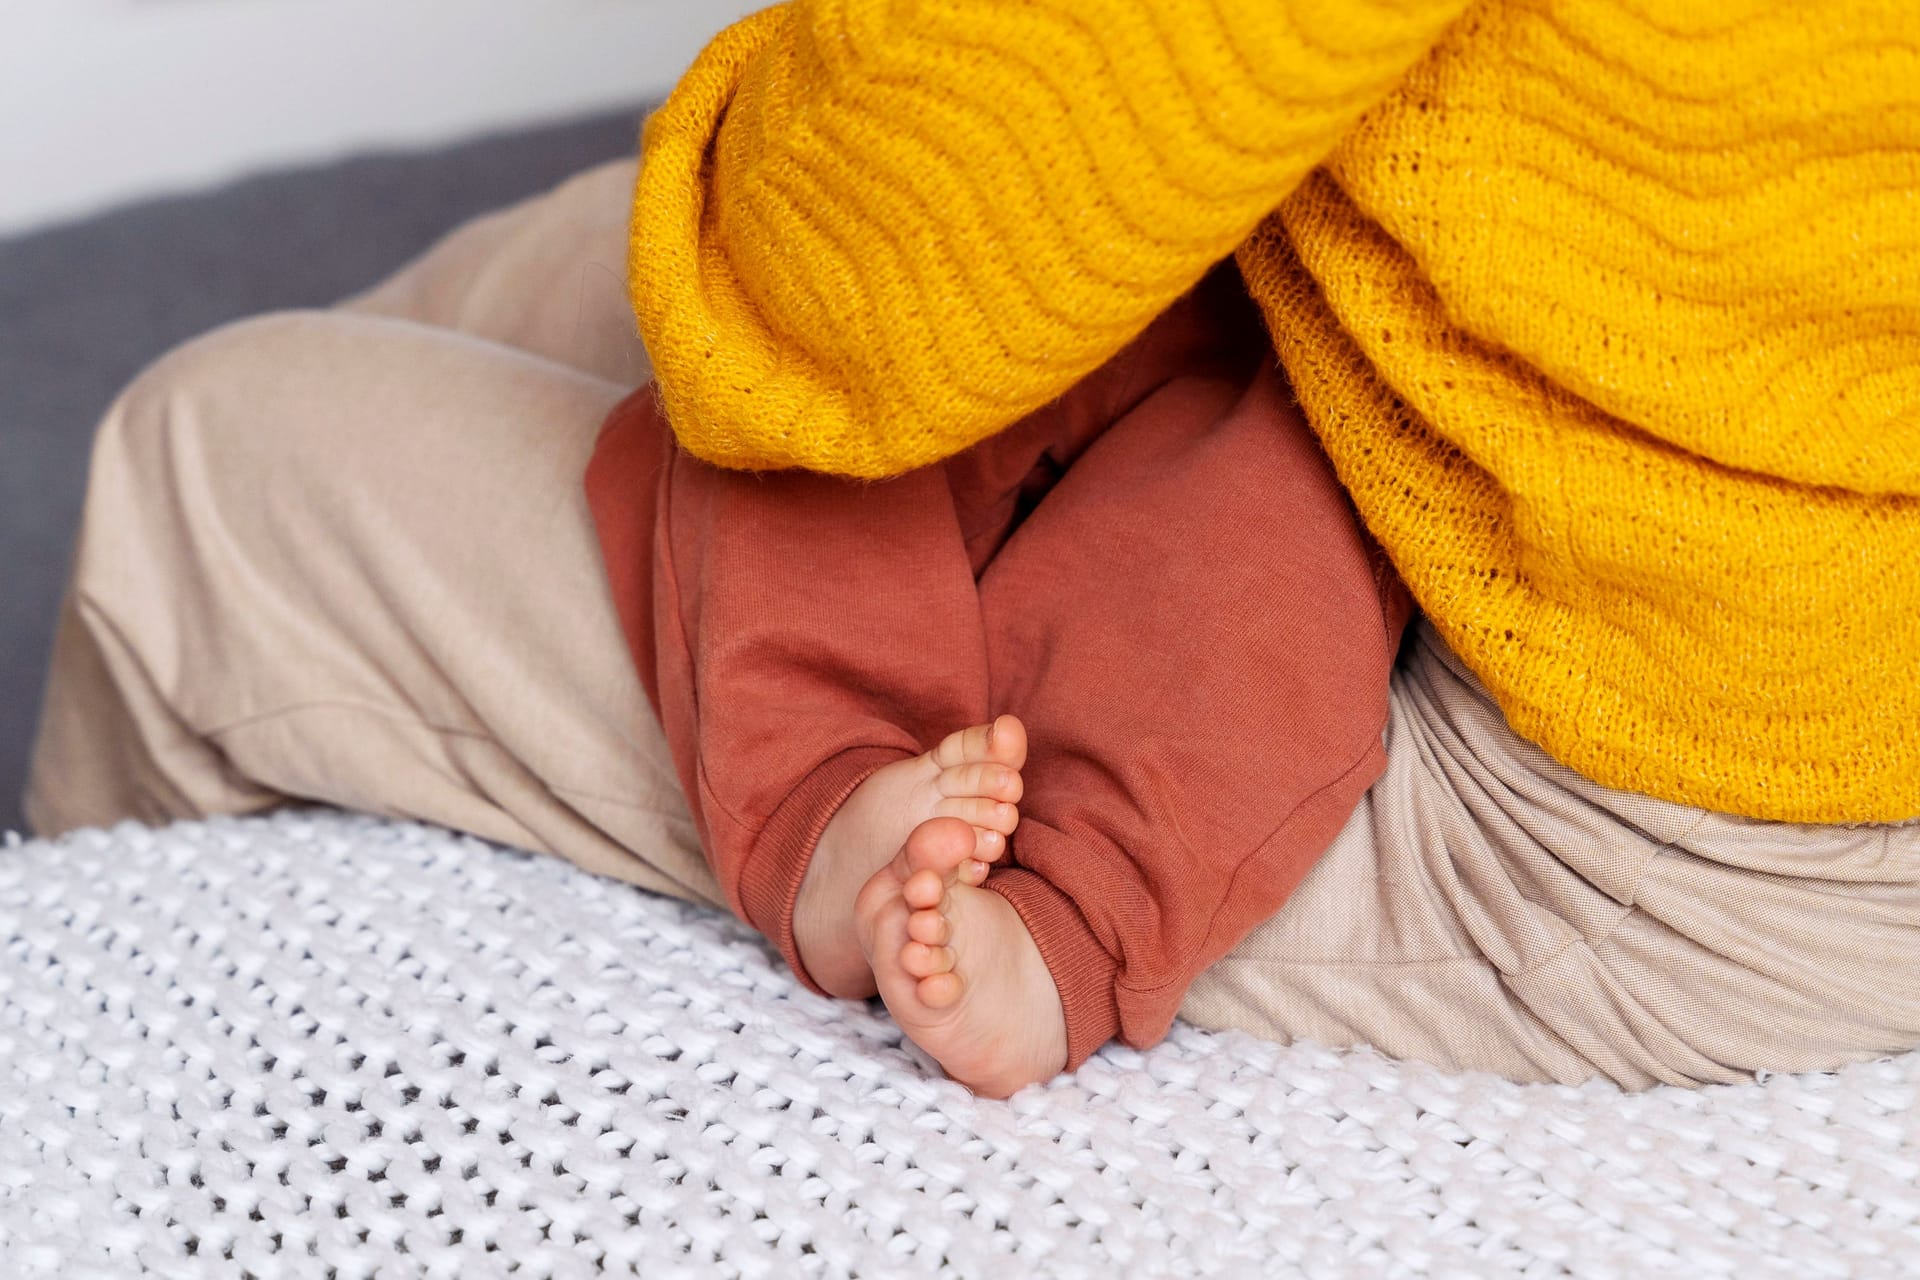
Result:
{"label": "beige trousers worn by the seated adult, both visible portions", "polygon": [[[582,474],[647,376],[632,163],[332,311],[169,353],[94,447],[27,812],[42,833],[317,800],[718,902]],[[1732,1080],[1920,1044],[1920,825],[1596,787],[1430,629],[1388,770],[1183,1013],[1519,1080]]]}

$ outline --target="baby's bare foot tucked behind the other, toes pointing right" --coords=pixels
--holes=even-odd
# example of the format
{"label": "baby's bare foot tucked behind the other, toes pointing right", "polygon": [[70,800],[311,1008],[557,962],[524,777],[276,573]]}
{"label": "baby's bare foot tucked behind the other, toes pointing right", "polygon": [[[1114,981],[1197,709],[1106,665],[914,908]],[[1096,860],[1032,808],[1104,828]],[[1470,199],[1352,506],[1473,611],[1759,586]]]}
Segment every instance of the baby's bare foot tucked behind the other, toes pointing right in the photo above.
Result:
{"label": "baby's bare foot tucked behind the other, toes pointing right", "polygon": [[914,827],[931,818],[966,823],[972,844],[956,875],[972,885],[987,879],[987,864],[1006,852],[1006,837],[1020,823],[1025,764],[1027,727],[1018,716],[1000,716],[948,733],[924,756],[876,770],[847,796],[820,833],[793,904],[793,942],[822,990],[854,1000],[876,992],[854,936],[854,896],[900,852]]}

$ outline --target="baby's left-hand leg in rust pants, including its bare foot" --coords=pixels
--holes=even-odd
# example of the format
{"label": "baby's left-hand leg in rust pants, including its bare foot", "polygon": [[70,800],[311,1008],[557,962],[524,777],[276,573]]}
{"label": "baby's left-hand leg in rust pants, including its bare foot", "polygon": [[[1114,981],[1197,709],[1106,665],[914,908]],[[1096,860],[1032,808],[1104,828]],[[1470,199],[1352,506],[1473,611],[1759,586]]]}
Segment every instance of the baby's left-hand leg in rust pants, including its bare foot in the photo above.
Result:
{"label": "baby's left-hand leg in rust pants, including its bare foot", "polygon": [[612,593],[730,906],[804,981],[870,996],[860,885],[933,818],[973,881],[1018,821],[1025,735],[989,716],[979,597],[939,468],[883,484],[726,472],[651,391],[588,493]]}

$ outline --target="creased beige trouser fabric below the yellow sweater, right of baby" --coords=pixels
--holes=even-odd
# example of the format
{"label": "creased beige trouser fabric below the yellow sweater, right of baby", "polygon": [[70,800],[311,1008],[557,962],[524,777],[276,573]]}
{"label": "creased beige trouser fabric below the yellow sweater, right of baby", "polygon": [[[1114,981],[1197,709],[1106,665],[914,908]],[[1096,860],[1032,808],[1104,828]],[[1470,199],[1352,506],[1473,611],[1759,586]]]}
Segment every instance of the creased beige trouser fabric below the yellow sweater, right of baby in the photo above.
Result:
{"label": "creased beige trouser fabric below the yellow sweater, right of baby", "polygon": [[1599,787],[1517,737],[1427,624],[1394,674],[1386,754],[1185,1017],[1630,1088],[1920,1044],[1920,825],[1753,821]]}

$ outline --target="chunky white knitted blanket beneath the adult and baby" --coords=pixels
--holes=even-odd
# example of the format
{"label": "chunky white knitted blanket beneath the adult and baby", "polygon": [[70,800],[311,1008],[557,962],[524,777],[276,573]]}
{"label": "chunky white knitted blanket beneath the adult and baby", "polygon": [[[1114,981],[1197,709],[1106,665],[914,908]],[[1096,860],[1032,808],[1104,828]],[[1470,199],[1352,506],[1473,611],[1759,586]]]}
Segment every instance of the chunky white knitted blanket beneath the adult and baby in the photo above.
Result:
{"label": "chunky white knitted blanket beneath the adult and baby", "polygon": [[979,1102],[559,860],[324,812],[0,850],[6,1278],[1912,1276],[1916,1092],[1181,1027]]}

